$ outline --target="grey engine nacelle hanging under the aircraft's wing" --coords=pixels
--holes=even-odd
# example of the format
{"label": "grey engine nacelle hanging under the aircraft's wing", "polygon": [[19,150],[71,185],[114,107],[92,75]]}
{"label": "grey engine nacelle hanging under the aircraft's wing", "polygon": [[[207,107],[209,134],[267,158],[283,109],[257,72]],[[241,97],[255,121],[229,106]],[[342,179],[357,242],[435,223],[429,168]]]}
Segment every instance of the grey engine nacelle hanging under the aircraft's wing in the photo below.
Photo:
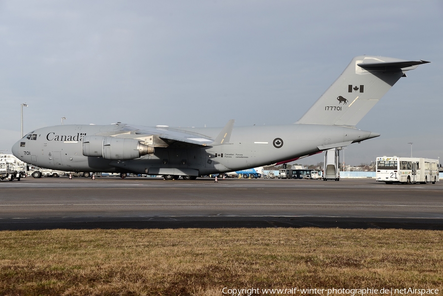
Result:
{"label": "grey engine nacelle hanging under the aircraft's wing", "polygon": [[88,135],[83,137],[84,156],[103,157],[109,160],[129,160],[154,153],[154,147],[128,138]]}

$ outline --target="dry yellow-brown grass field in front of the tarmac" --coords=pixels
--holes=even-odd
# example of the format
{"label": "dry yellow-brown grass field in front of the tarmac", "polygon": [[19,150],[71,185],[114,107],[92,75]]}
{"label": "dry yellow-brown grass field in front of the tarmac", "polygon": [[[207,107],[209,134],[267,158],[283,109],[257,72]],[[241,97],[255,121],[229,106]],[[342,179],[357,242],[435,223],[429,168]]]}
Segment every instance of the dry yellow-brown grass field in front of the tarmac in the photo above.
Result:
{"label": "dry yellow-brown grass field in front of the tarmac", "polygon": [[1,231],[0,295],[211,296],[223,288],[293,287],[442,293],[442,238],[443,231],[318,228]]}

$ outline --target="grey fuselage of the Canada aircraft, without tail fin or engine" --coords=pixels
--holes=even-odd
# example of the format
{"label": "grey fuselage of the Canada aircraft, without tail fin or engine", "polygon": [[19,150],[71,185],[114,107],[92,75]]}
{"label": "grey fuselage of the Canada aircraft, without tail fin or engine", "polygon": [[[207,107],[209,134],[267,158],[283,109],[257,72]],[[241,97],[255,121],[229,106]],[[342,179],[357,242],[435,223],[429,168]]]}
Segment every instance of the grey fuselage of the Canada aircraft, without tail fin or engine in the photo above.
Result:
{"label": "grey fuselage of the Canada aircraft, without tail fin or engine", "polygon": [[[156,147],[152,154],[129,160],[83,155],[82,140],[86,136],[122,136],[127,131],[137,132],[137,129],[128,128],[130,126],[125,124],[41,128],[15,143],[12,152],[28,164],[64,171],[201,176],[284,162],[379,136],[355,128],[316,124],[235,127],[228,143],[214,146],[187,147],[177,142],[166,147]],[[174,128],[174,131],[209,138],[215,138],[221,130]],[[161,132],[161,129],[158,131]],[[137,134],[138,138],[143,136],[142,132]]]}

